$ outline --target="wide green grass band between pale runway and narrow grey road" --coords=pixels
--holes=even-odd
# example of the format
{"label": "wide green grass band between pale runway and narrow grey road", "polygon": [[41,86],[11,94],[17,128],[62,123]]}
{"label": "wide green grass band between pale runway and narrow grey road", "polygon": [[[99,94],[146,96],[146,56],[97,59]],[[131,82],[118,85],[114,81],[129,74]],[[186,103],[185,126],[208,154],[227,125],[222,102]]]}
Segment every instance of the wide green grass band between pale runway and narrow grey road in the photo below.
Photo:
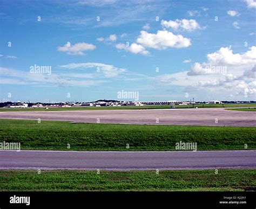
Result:
{"label": "wide green grass band between pale runway and narrow grey road", "polygon": [[[0,120],[0,142],[21,149],[175,150],[175,143],[197,142],[198,150],[256,148],[255,127],[154,126]],[[67,148],[70,144],[70,149]],[[130,149],[126,149],[129,144]]]}

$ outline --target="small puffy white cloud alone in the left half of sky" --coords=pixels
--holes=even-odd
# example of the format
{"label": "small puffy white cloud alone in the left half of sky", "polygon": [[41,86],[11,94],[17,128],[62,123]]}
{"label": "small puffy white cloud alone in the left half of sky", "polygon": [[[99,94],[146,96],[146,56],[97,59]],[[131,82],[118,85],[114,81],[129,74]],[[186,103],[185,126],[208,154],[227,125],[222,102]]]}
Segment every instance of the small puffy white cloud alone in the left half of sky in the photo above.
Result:
{"label": "small puffy white cloud alone in the left half of sky", "polygon": [[84,55],[84,51],[87,50],[95,50],[96,46],[93,44],[87,44],[87,43],[77,43],[75,45],[70,46],[68,44],[65,44],[64,46],[58,46],[57,50],[60,52],[66,52],[68,54],[74,54],[74,55]]}

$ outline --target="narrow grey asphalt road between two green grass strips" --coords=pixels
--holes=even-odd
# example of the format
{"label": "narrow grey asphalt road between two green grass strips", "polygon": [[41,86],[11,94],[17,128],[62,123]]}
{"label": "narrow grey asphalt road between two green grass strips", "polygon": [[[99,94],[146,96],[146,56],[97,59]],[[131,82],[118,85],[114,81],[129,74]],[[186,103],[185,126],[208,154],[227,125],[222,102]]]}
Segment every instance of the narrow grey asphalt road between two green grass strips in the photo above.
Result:
{"label": "narrow grey asphalt road between two green grass strips", "polygon": [[228,151],[0,151],[0,170],[256,169],[256,150]]}

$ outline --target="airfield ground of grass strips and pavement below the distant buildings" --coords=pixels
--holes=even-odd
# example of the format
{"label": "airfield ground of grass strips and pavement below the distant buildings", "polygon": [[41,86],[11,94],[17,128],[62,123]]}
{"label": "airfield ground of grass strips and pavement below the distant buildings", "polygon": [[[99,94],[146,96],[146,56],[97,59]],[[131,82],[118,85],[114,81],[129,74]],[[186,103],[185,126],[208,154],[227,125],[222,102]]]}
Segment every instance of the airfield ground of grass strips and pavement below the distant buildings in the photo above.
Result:
{"label": "airfield ground of grass strips and pavement below the distant buildings", "polygon": [[[21,143],[20,151],[0,150],[0,190],[252,190],[255,113],[225,108],[0,112],[0,139]],[[196,142],[197,151],[176,150],[179,141]]]}

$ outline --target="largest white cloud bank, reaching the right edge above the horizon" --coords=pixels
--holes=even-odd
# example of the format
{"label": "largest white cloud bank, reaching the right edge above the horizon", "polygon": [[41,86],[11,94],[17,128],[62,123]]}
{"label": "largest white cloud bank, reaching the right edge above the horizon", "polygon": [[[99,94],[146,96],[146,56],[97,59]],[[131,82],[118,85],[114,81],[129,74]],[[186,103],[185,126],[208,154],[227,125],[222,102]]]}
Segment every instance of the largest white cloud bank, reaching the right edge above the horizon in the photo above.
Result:
{"label": "largest white cloud bank, reaching the right edge above the horizon", "polygon": [[[226,72],[214,71],[218,67]],[[211,69],[211,70],[209,70]],[[220,69],[220,68],[219,68]],[[156,79],[162,85],[177,85],[186,89],[203,92],[219,92],[219,96],[256,95],[256,46],[244,53],[233,53],[231,47],[207,54],[207,61],[196,62],[190,71],[160,75]]]}

